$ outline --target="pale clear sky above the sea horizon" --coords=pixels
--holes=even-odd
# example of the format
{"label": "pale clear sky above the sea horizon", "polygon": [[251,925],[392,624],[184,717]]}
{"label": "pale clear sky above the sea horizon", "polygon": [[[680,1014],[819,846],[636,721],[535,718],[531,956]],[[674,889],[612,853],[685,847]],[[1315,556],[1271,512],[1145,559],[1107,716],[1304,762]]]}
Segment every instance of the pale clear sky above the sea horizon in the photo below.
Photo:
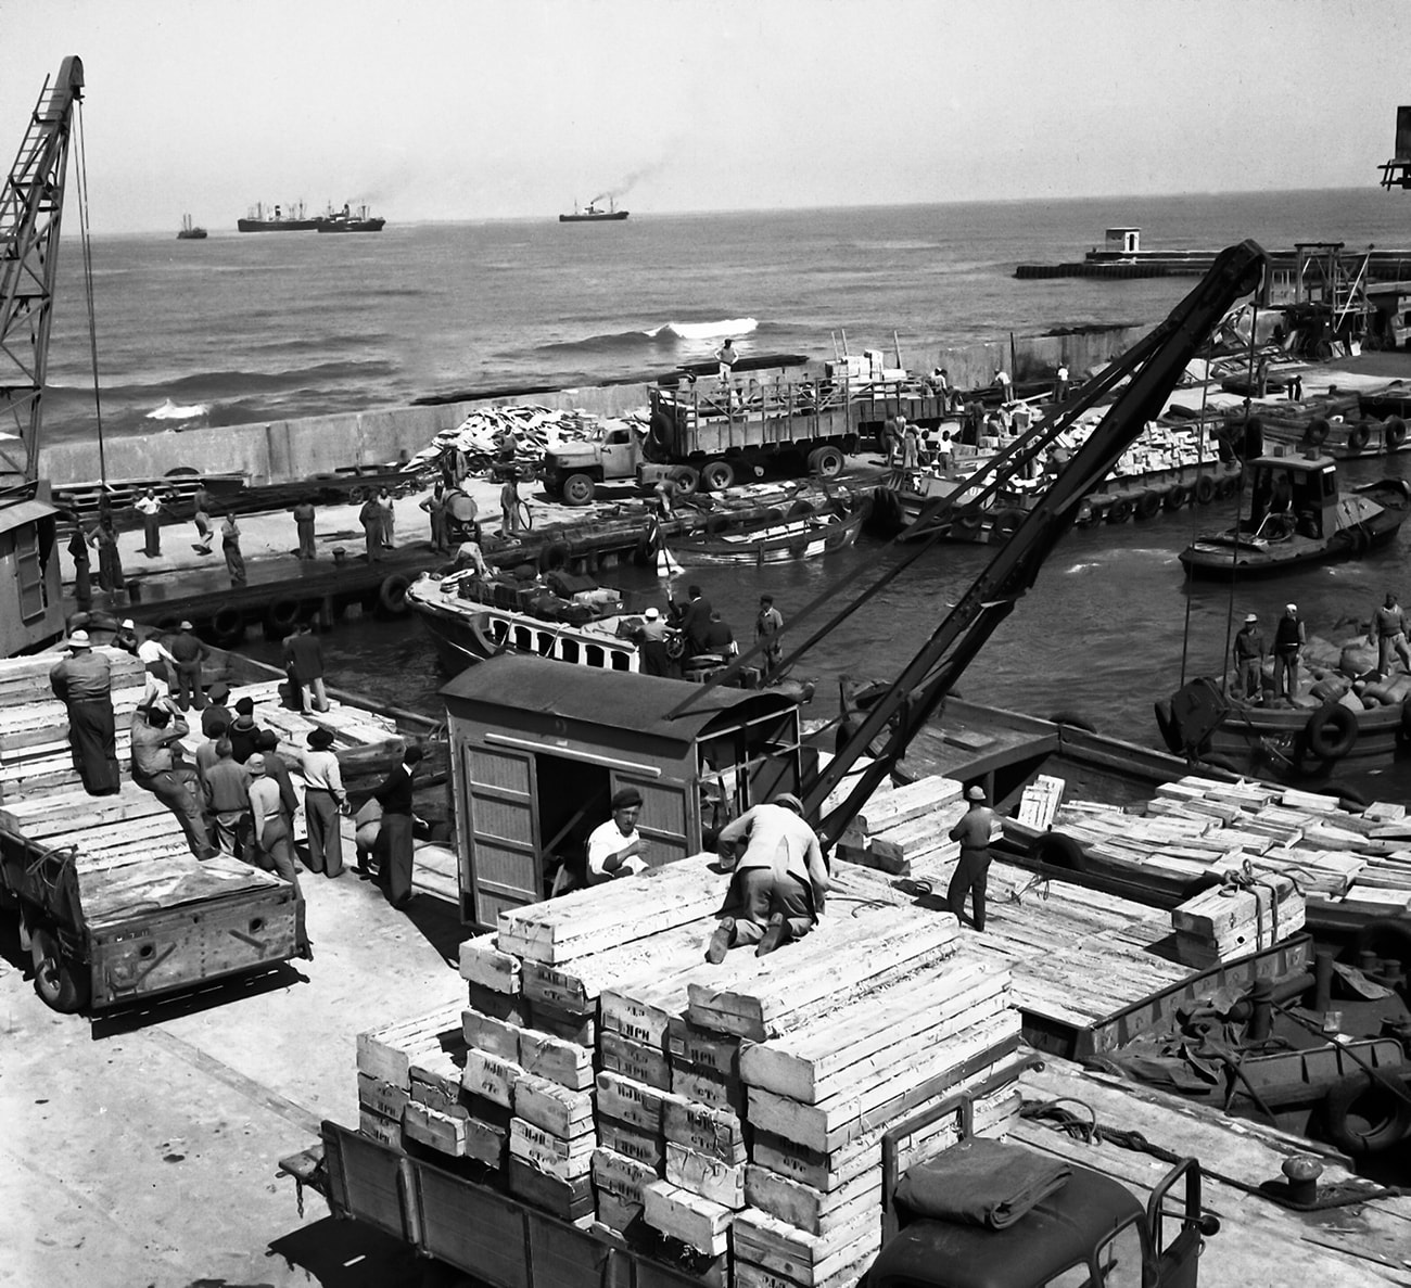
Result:
{"label": "pale clear sky above the sea horizon", "polygon": [[0,0],[0,152],[85,68],[95,233],[1363,188],[1403,0]]}

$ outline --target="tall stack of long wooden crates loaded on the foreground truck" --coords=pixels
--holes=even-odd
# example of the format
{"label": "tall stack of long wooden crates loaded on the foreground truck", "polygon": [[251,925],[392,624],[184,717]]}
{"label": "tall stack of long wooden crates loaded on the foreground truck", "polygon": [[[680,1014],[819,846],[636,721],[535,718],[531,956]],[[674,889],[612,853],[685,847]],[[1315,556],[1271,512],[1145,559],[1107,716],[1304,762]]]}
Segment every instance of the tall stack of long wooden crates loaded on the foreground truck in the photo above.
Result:
{"label": "tall stack of long wooden crates loaded on the foreground truck", "polygon": [[[713,966],[710,858],[464,942],[468,1007],[360,1038],[363,1130],[713,1288],[851,1282],[880,1243],[882,1133],[982,1085],[979,1130],[1017,1113],[1009,975],[848,865],[813,934]],[[903,1167],[957,1130],[903,1141]]]}

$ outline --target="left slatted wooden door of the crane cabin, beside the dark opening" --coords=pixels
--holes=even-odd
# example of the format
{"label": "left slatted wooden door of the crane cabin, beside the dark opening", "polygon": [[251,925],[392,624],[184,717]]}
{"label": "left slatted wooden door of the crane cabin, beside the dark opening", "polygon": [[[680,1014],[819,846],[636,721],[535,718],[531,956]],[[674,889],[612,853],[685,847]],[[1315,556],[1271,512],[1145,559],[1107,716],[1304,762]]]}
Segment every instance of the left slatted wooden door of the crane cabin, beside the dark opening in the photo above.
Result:
{"label": "left slatted wooden door of the crane cabin, beside the dark opening", "polygon": [[533,756],[463,745],[461,890],[480,925],[495,925],[504,909],[543,899],[539,872],[539,801]]}

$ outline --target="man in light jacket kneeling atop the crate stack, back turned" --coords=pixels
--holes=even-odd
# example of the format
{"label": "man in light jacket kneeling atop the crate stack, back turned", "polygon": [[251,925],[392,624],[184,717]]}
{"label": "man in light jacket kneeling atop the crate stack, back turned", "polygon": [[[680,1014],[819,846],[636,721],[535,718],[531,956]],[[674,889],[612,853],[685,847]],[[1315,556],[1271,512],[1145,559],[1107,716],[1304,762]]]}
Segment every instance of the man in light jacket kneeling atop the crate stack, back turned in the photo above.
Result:
{"label": "man in light jacket kneeling atop the crate stack, back turned", "polygon": [[727,862],[739,856],[706,961],[724,961],[737,944],[753,944],[755,955],[763,956],[806,935],[823,916],[828,869],[793,793],[745,810],[721,828],[715,848]]}

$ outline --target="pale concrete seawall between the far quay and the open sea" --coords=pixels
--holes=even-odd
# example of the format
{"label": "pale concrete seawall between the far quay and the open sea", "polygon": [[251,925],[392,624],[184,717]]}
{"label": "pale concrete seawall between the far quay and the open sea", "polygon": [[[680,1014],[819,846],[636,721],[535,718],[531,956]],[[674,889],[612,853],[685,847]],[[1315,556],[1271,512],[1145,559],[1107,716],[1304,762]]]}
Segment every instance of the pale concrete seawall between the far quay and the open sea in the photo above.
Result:
{"label": "pale concrete seawall between the far quay and the open sea", "polygon": [[[1060,363],[1074,377],[1110,361],[1149,327],[1082,332],[1071,336],[1026,336],[1015,341],[1017,361],[1010,363],[1007,340],[947,348],[940,365],[959,388],[992,382],[1003,367],[1016,381],[1051,378]],[[930,364],[917,364],[930,370]],[[185,467],[202,474],[244,471],[254,485],[291,482],[310,474],[330,474],[344,466],[380,466],[405,451],[420,451],[437,433],[454,429],[471,412],[485,408],[532,403],[550,411],[580,408],[597,415],[619,415],[646,406],[649,385],[586,385],[547,394],[481,398],[440,406],[395,406],[296,420],[253,425],[220,425],[182,433],[119,435],[103,444],[109,478],[161,477]],[[100,477],[96,440],[47,444],[40,471],[55,487],[90,482]]]}

